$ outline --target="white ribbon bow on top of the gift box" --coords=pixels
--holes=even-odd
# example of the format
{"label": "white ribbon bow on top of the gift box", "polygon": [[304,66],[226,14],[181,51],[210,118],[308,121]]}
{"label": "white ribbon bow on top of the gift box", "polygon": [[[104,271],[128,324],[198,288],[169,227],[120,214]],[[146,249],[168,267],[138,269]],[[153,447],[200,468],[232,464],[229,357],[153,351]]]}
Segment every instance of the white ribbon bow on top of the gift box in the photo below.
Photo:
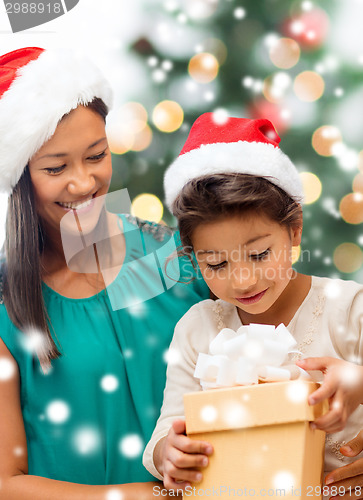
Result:
{"label": "white ribbon bow on top of the gift box", "polygon": [[209,354],[200,353],[194,377],[205,389],[233,385],[257,384],[259,380],[277,382],[311,380],[310,375],[291,364],[288,355],[297,342],[281,323],[273,325],[251,323],[236,332],[223,328],[209,345]]}

